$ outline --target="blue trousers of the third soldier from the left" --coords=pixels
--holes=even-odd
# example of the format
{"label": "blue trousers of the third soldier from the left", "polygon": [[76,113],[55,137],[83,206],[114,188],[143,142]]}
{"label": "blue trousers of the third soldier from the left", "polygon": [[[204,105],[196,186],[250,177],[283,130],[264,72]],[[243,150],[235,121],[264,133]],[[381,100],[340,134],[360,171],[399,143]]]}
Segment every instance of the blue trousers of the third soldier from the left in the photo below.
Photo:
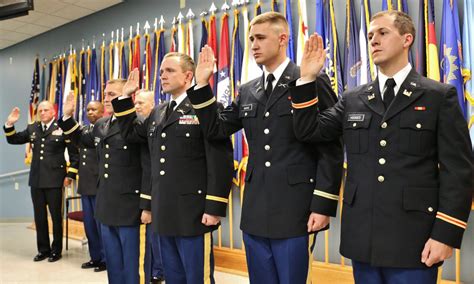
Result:
{"label": "blue trousers of the third soldier from the left", "polygon": [[138,284],[140,227],[101,224],[110,284]]}

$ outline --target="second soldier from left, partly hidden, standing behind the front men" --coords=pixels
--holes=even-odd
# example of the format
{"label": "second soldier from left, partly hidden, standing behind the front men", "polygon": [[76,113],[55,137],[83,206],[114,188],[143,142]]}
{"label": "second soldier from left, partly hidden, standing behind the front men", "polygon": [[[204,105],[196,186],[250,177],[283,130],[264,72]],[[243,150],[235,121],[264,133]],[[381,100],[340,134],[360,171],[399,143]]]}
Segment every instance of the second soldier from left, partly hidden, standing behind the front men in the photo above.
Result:
{"label": "second soldier from left, partly hidden, standing behind the front men", "polygon": [[88,145],[87,137],[94,129],[95,122],[102,118],[104,106],[99,101],[87,104],[87,118],[90,124],[81,128],[79,141],[72,142],[79,148],[79,185],[77,193],[81,195],[82,211],[84,212],[84,231],[89,247],[90,261],[81,265],[82,268],[94,268],[94,271],[105,270],[105,255],[100,236],[100,224],[94,217],[95,199],[97,195],[97,180],[99,176],[99,161],[94,145]]}

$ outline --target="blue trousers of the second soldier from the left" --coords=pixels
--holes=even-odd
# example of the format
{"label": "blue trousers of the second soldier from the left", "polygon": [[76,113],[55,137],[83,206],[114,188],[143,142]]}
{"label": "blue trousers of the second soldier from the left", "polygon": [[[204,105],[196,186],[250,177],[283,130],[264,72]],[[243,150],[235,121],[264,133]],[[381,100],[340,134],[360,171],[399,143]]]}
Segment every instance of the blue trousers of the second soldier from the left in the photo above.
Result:
{"label": "blue trousers of the second soldier from the left", "polygon": [[100,234],[100,224],[94,218],[95,195],[82,195],[82,211],[84,212],[84,230],[86,231],[89,254],[94,262],[105,262],[104,248]]}

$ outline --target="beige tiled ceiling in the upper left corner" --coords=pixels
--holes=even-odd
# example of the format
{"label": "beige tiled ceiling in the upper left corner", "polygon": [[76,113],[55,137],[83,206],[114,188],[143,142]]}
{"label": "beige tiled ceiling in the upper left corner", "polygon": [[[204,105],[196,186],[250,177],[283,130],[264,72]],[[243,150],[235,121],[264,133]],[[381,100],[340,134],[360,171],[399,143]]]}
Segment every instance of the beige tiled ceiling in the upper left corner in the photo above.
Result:
{"label": "beige tiled ceiling in the upper left corner", "polygon": [[[0,0],[0,4],[5,2],[8,0]],[[34,10],[28,16],[0,21],[0,50],[121,2],[34,0]]]}

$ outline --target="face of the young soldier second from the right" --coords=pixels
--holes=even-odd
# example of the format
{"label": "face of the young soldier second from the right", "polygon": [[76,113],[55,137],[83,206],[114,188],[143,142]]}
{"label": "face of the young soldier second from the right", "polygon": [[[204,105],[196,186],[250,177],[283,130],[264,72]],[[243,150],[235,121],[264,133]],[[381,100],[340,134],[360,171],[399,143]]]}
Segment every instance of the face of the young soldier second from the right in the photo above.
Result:
{"label": "face of the young soldier second from the right", "polygon": [[249,33],[252,54],[258,64],[271,65],[281,52],[281,33],[270,23],[252,25]]}

